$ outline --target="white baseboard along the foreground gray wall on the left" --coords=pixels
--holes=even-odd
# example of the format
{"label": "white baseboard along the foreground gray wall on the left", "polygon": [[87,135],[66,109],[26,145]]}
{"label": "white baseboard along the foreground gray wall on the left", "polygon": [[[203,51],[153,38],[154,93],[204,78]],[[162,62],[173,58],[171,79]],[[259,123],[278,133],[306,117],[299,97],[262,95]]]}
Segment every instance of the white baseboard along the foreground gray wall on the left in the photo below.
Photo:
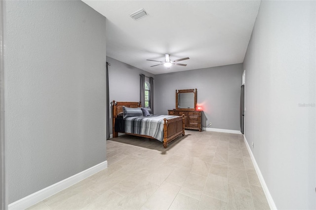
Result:
{"label": "white baseboard along the foreground gray wall on the left", "polygon": [[24,197],[16,202],[9,204],[8,210],[24,210],[27,209],[34,204],[39,203],[40,201],[70,187],[73,184],[89,177],[90,175],[94,175],[102,171],[103,169],[108,168],[108,162],[104,161],[95,165],[87,170],[84,170],[76,175],[70,176],[64,180],[61,180],[53,185],[50,185],[38,192],[35,192],[27,197]]}

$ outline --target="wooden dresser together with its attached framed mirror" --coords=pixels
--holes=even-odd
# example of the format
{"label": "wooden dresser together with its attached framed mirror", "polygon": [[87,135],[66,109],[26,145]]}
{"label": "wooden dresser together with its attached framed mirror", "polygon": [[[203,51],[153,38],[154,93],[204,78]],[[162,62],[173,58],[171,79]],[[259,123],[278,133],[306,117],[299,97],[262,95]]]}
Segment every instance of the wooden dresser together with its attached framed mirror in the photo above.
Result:
{"label": "wooden dresser together with its attached framed mirror", "polygon": [[176,108],[168,115],[185,115],[184,128],[202,130],[202,110],[197,109],[197,89],[176,90]]}

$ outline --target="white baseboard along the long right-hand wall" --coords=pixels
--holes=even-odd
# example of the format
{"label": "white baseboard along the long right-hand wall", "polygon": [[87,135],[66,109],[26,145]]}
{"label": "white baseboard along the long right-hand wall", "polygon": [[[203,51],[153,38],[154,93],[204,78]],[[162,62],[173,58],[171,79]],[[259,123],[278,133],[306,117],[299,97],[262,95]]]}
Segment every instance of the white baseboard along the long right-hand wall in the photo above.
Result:
{"label": "white baseboard along the long right-hand wall", "polygon": [[270,194],[270,191],[269,191],[269,189],[268,189],[268,186],[267,186],[267,184],[266,184],[266,182],[265,182],[265,180],[264,180],[264,178],[263,178],[263,176],[262,176],[262,174],[261,174],[261,171],[260,171],[259,166],[258,166],[258,164],[257,164],[257,162],[256,162],[256,159],[255,159],[255,157],[253,156],[252,151],[251,151],[251,149],[250,149],[250,146],[249,146],[249,144],[248,144],[248,141],[246,140],[246,137],[245,137],[244,135],[243,135],[243,140],[245,141],[245,144],[246,144],[246,146],[247,146],[248,152],[249,152],[249,154],[250,154],[250,158],[251,158],[252,163],[253,163],[253,166],[255,167],[255,170],[256,170],[256,172],[257,172],[257,175],[258,175],[258,178],[259,178],[259,180],[260,180],[262,189],[263,189],[263,191],[264,191],[264,193],[265,193],[265,195],[266,195],[266,197],[267,197],[267,200],[268,200],[270,209],[276,210],[276,204],[275,204],[275,202],[274,202],[273,199],[272,199],[272,196],[271,196],[271,194]]}

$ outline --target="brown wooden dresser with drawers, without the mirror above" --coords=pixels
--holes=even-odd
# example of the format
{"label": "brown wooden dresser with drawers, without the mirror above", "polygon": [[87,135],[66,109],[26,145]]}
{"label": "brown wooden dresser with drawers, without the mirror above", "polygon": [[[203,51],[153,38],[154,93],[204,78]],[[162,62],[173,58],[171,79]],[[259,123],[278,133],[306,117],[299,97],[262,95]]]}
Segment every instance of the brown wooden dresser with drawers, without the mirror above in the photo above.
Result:
{"label": "brown wooden dresser with drawers, without the mirror above", "polygon": [[184,128],[192,130],[202,130],[202,111],[192,110],[168,110],[168,115],[182,116],[184,114]]}

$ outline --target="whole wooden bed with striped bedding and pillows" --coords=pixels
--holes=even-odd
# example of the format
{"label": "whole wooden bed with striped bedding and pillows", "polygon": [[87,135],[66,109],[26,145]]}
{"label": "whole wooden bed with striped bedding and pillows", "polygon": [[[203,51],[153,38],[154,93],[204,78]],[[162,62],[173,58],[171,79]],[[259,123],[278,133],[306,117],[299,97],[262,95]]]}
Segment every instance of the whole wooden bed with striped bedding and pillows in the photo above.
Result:
{"label": "whole wooden bed with striped bedding and pillows", "polygon": [[163,148],[167,148],[169,142],[185,135],[183,116],[145,115],[142,112],[144,108],[140,106],[140,102],[113,101],[113,138],[118,137],[119,132],[156,139],[162,141]]}

